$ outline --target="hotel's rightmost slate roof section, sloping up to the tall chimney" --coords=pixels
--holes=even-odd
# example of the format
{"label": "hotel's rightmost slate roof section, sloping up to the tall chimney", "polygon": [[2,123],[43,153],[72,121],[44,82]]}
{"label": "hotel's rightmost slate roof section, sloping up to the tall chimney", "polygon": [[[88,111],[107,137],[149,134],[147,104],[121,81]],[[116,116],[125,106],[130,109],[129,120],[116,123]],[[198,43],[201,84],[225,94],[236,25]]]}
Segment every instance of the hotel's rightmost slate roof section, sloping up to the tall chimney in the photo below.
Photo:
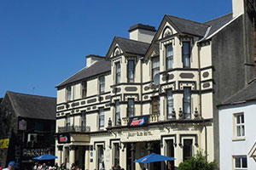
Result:
{"label": "hotel's rightmost slate roof section, sloping up to the tall chimney", "polygon": [[232,16],[232,13],[224,14],[223,16],[205,22],[204,24],[212,26],[207,37],[211,36],[215,31],[218,31],[218,29],[230,22],[230,20],[232,20]]}

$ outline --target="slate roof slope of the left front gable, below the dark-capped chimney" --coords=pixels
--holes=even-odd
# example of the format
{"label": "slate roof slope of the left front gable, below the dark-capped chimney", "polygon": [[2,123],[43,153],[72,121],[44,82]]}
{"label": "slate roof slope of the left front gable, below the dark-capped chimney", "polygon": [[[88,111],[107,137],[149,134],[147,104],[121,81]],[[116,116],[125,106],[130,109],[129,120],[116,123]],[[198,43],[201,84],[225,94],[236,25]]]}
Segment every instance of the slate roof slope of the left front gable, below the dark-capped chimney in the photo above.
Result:
{"label": "slate roof slope of the left front gable, below the dark-capped chimney", "polygon": [[121,48],[125,53],[130,54],[144,55],[150,46],[150,43],[138,42],[124,37],[114,37],[114,40],[119,44],[119,48]]}

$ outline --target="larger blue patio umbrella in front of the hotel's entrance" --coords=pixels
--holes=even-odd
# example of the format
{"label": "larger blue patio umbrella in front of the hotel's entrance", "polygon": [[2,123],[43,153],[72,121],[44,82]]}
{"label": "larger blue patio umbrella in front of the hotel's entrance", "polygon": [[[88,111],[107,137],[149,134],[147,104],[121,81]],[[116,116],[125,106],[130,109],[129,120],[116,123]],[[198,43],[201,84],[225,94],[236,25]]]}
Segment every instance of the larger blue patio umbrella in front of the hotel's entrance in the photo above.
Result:
{"label": "larger blue patio umbrella in front of the hotel's entrance", "polygon": [[173,157],[168,157],[168,156],[161,156],[155,153],[152,153],[148,156],[144,156],[134,162],[138,163],[150,163],[150,162],[155,162],[155,161],[174,161],[175,158]]}

